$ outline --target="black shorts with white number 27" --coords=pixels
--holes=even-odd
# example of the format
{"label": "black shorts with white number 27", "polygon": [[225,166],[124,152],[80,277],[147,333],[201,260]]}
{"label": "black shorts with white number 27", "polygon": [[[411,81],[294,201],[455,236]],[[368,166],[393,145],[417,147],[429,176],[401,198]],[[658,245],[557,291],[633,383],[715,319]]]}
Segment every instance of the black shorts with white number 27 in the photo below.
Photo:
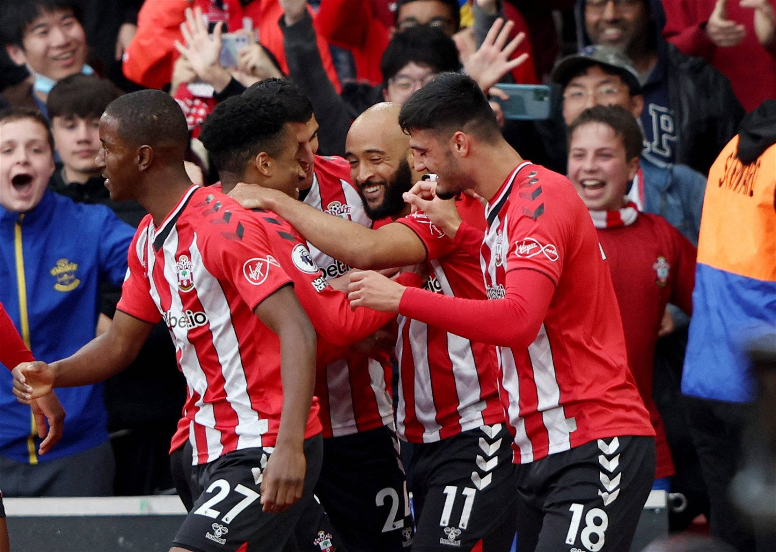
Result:
{"label": "black shorts with white number 27", "polygon": [[[300,519],[307,522],[306,512],[316,506],[320,509],[313,489],[320,473],[322,440],[315,436],[304,442],[307,473],[302,498],[279,514],[262,512],[260,483],[256,483],[272,449],[235,450],[213,462],[193,466],[192,478],[202,491],[173,544],[195,552],[234,551],[244,543],[248,543],[248,550],[289,550],[289,540],[295,538]],[[327,533],[321,533],[321,542],[315,543],[317,550],[326,549]]]}

